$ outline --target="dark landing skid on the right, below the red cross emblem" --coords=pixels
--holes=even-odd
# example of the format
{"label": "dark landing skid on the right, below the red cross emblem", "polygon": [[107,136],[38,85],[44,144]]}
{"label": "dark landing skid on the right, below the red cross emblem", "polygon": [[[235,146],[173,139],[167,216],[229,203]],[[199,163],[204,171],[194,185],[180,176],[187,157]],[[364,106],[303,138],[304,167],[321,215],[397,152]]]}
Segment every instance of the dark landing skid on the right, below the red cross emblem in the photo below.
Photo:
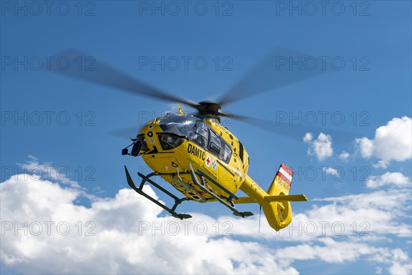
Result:
{"label": "dark landing skid on the right, below the red cross emblem", "polygon": [[[233,198],[238,199],[238,197],[236,197],[236,195],[234,195],[232,192],[227,190],[225,187],[223,187],[217,181],[215,181],[214,179],[212,179],[211,177],[206,175],[202,170],[196,170],[196,172],[195,172],[193,170],[192,164],[189,163],[189,166],[190,166],[190,175],[192,175],[192,179],[193,179],[194,184],[196,184],[198,186],[198,188],[201,188],[201,190],[203,190],[203,192],[207,192],[207,194],[211,195],[211,197],[214,197],[214,199],[216,199],[216,201],[219,201],[224,206],[226,206],[227,208],[232,210],[233,214],[235,216],[239,216],[239,217],[244,218],[244,217],[249,217],[249,216],[253,215],[252,212],[240,212],[240,211],[238,211],[235,208],[235,205],[233,204]],[[196,175],[198,175],[198,177],[201,179],[201,182],[198,181],[198,177],[196,177]],[[211,192],[210,190],[208,190],[206,188],[204,178],[206,178],[208,181],[211,181],[212,184],[218,186],[218,188],[222,189],[223,191],[227,192],[227,194],[229,194],[229,197],[225,198],[226,201],[224,199],[222,199],[221,197],[218,197],[218,195],[216,195],[214,192]]]}

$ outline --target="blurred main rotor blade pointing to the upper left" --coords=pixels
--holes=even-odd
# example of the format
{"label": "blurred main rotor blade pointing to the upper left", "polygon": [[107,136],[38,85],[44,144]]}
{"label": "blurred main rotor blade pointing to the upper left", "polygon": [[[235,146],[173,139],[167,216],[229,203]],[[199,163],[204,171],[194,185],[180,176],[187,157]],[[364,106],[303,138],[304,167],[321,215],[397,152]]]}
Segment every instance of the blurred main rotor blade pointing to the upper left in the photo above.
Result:
{"label": "blurred main rotor blade pointing to the upper left", "polygon": [[[151,98],[158,98],[172,102],[181,102],[192,107],[196,107],[198,105],[192,100],[168,94],[161,89],[157,89],[140,80],[127,76],[110,65],[107,65],[102,61],[98,61],[93,56],[89,56],[78,50],[65,50],[60,52],[58,56],[67,58],[69,65],[62,68],[58,63],[52,63],[53,65],[50,68],[52,72],[58,72],[66,76],[86,80],[91,83],[98,83],[100,85],[122,89],[133,94],[144,95]],[[79,67],[79,65],[86,66]]]}

